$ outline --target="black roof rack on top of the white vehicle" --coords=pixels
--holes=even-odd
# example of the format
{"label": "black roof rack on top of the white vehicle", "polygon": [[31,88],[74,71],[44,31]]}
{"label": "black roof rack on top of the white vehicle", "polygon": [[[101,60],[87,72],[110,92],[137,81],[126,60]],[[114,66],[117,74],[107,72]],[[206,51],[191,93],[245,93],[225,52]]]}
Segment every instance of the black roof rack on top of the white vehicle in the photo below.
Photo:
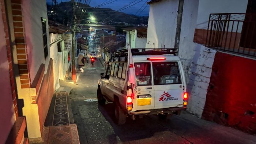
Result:
{"label": "black roof rack on top of the white vehicle", "polygon": [[[176,49],[174,48],[166,48],[166,49],[147,49],[147,48],[142,48],[142,49],[131,49],[132,55],[162,55],[162,54],[173,54],[176,56],[177,52]],[[124,50],[119,50],[117,52],[114,52],[114,56],[112,56],[109,59],[109,62],[114,62],[114,61],[120,61],[121,57],[125,58],[125,61],[127,60],[128,56],[128,49]]]}

